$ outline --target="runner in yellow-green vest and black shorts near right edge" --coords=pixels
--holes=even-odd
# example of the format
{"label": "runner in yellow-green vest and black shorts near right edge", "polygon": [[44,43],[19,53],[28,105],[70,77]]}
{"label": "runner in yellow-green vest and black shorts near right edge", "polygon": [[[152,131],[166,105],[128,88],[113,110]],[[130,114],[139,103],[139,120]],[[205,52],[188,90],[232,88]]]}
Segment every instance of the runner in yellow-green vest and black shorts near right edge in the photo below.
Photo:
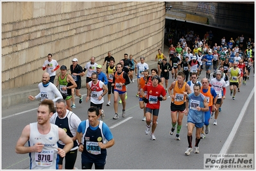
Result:
{"label": "runner in yellow-green vest and black shorts near right edge", "polygon": [[229,76],[229,88],[230,95],[233,94],[232,99],[235,100],[235,94],[239,85],[239,77],[241,76],[241,70],[237,67],[237,62],[234,62],[234,66],[228,69]]}

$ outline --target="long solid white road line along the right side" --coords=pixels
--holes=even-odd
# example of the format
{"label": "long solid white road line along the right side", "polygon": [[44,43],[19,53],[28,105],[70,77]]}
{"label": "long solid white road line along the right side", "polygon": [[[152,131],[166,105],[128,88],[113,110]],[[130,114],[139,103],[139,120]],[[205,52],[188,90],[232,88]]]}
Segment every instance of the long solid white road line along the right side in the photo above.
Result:
{"label": "long solid white road line along the right side", "polygon": [[[224,143],[221,151],[219,152],[219,154],[226,154],[226,152],[228,151],[233,139],[234,139],[234,136],[235,136],[235,133],[237,132],[237,129],[244,117],[244,113],[246,111],[246,109],[248,108],[248,104],[249,102],[251,101],[252,97],[253,97],[253,94],[254,94],[254,86],[252,88],[252,92],[250,93],[248,99],[245,101],[244,103],[244,106],[239,114],[239,117],[237,118],[237,120],[235,121],[235,124],[234,124],[234,127],[232,128],[232,131],[230,132],[228,138],[226,139],[226,142]],[[216,161],[220,159],[219,157],[216,159]],[[214,165],[220,165],[220,164],[214,164]],[[220,167],[212,167],[211,170],[216,170],[216,169],[219,169]]]}

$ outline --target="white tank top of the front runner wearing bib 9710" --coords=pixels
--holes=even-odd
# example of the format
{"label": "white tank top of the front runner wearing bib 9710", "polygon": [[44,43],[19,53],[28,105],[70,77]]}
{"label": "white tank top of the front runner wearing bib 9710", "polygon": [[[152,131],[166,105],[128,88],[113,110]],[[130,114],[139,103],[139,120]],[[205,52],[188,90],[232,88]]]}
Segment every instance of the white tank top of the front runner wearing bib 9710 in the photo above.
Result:
{"label": "white tank top of the front runner wearing bib 9710", "polygon": [[37,129],[37,122],[30,124],[30,140],[28,145],[31,147],[35,143],[44,144],[42,152],[30,152],[30,169],[57,169],[58,152],[58,126],[51,124],[51,131],[48,134],[40,134]]}

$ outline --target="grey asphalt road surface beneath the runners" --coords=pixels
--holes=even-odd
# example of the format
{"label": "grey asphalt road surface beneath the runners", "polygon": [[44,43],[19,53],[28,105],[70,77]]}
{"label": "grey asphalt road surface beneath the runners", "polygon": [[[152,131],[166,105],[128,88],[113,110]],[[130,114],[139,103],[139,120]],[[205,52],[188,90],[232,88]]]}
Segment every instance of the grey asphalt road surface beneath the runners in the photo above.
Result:
{"label": "grey asphalt road surface beneath the runners", "polygon": [[[166,54],[166,53],[165,53]],[[202,71],[201,78],[205,76],[205,70]],[[135,80],[136,81],[136,80]],[[169,79],[169,85],[173,79]],[[113,96],[111,106],[106,106],[107,97],[103,104],[106,118],[103,120],[112,131],[115,139],[115,145],[107,150],[107,164],[105,169],[125,169],[125,170],[173,170],[173,169],[203,169],[203,154],[219,154],[223,151],[226,142],[230,145],[226,148],[227,154],[254,154],[255,152],[255,126],[254,126],[254,77],[250,76],[246,86],[241,87],[241,92],[237,93],[236,100],[233,101],[227,90],[222,111],[219,114],[218,126],[213,126],[213,120],[210,120],[210,133],[206,138],[200,141],[200,154],[191,153],[185,156],[187,149],[187,127],[186,119],[183,118],[183,126],[180,131],[181,140],[175,140],[175,134],[171,136],[170,117],[170,98],[161,102],[158,125],[155,131],[157,140],[150,140],[150,135],[146,135],[145,122],[142,121],[142,110],[139,108],[139,100],[135,97],[137,93],[136,83],[128,85],[128,99],[126,102],[126,117],[121,117],[122,106],[119,104],[119,119],[113,120]],[[253,90],[253,91],[252,91]],[[244,104],[250,94],[252,99],[248,102],[245,112],[241,112]],[[81,120],[87,117],[87,108],[89,102],[85,102],[86,90],[81,89],[83,102],[79,104],[76,98],[76,108],[73,110]],[[8,109],[2,109],[2,165],[4,169],[29,169],[30,159],[28,154],[16,154],[15,144],[22,132],[22,129],[31,122],[36,122],[36,109],[39,101],[33,101],[28,104],[12,106]],[[14,115],[13,115],[14,114]],[[234,138],[227,138],[232,133],[239,115],[243,115],[241,124],[235,131]],[[192,145],[194,146],[195,131],[193,133]],[[76,165],[81,169],[81,153],[78,152]]]}

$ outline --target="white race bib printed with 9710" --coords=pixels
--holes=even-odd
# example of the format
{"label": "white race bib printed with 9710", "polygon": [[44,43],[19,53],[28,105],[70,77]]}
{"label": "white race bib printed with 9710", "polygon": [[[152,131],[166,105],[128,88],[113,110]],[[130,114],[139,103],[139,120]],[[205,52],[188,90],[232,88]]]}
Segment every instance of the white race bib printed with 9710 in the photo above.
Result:
{"label": "white race bib printed with 9710", "polygon": [[53,150],[43,150],[42,152],[35,152],[35,164],[38,167],[49,167],[53,165]]}

